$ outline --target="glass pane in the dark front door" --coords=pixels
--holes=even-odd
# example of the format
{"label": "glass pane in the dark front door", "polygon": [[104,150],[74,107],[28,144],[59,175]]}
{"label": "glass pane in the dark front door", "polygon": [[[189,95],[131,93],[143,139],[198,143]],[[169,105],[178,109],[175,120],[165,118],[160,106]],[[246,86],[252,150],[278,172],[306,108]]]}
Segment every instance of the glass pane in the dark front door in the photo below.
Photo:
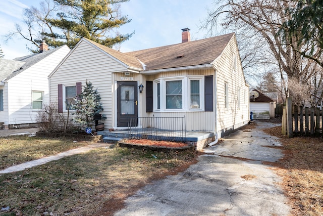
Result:
{"label": "glass pane in the dark front door", "polygon": [[120,113],[121,115],[135,114],[135,87],[133,85],[121,85],[121,101]]}

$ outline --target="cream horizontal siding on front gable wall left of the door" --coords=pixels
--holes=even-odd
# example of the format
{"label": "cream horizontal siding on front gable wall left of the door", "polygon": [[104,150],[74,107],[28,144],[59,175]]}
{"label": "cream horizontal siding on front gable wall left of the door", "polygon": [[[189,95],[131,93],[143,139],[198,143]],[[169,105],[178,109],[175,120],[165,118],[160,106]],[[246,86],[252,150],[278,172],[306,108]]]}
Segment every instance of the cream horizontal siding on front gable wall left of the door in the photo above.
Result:
{"label": "cream horizontal siding on front gable wall left of the door", "polygon": [[58,84],[63,84],[64,88],[64,85],[82,82],[83,89],[87,80],[100,94],[104,109],[101,114],[106,116],[106,120],[102,121],[104,127],[112,128],[115,94],[112,73],[117,71],[127,71],[127,68],[83,40],[49,77],[50,103],[58,104]]}

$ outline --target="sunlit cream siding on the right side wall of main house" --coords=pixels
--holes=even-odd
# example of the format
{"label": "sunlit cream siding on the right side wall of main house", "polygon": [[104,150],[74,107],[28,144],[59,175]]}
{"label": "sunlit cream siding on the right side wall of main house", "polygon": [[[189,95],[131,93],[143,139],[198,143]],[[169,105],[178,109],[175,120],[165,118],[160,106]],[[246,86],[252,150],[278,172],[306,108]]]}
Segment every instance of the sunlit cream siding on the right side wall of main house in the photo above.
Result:
{"label": "sunlit cream siding on the right side wall of main house", "polygon": [[[237,64],[234,69],[235,56]],[[225,133],[247,124],[249,120],[249,98],[246,99],[249,87],[245,82],[235,36],[231,38],[221,56],[214,61],[214,66],[217,70],[217,129],[218,132]],[[225,108],[225,82],[228,83],[227,108]]]}

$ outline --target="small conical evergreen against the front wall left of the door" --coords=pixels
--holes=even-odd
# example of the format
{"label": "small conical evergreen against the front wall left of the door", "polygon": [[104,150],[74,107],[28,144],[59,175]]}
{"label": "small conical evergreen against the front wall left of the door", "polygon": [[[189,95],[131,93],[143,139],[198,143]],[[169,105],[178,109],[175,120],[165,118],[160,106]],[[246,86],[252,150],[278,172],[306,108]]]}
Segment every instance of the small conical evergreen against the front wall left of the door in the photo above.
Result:
{"label": "small conical evergreen against the front wall left of the door", "polygon": [[80,124],[81,128],[92,127],[94,124],[94,115],[99,114],[103,108],[100,103],[101,97],[97,90],[93,90],[93,85],[91,82],[87,82],[82,93],[78,95],[73,109],[76,110],[74,115],[76,115],[73,120]]}

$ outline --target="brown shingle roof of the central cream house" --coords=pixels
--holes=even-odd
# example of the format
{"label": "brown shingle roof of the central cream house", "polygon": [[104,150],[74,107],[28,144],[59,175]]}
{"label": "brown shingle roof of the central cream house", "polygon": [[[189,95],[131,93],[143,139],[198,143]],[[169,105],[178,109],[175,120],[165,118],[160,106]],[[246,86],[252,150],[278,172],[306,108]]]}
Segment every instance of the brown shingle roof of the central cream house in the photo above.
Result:
{"label": "brown shingle roof of the central cream house", "polygon": [[[230,33],[129,53],[121,53],[92,40],[84,39],[130,67],[158,70],[210,64],[221,55],[233,35],[234,33]],[[145,64],[145,69],[141,62]]]}

